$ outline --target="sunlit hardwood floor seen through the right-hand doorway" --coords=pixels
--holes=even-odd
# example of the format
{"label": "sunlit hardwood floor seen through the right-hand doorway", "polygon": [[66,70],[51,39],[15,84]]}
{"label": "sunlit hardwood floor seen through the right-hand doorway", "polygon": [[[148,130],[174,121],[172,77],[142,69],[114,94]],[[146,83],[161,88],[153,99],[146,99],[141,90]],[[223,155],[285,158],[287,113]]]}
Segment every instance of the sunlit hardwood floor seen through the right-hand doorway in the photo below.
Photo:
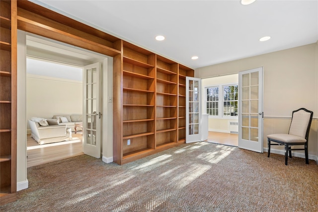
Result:
{"label": "sunlit hardwood floor seen through the right-hand doorway", "polygon": [[239,135],[230,133],[210,132],[208,142],[221,143],[224,145],[238,146]]}

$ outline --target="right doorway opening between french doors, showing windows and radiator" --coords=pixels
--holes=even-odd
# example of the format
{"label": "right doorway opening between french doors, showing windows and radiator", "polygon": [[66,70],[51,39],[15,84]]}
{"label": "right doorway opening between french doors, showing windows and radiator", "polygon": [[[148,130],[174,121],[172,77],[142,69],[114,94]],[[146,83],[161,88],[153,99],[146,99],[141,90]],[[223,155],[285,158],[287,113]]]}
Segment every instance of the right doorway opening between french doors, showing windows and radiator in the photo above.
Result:
{"label": "right doorway opening between french doors, showing windows and radiator", "polygon": [[209,115],[208,142],[238,146],[239,74],[202,79],[203,113]]}

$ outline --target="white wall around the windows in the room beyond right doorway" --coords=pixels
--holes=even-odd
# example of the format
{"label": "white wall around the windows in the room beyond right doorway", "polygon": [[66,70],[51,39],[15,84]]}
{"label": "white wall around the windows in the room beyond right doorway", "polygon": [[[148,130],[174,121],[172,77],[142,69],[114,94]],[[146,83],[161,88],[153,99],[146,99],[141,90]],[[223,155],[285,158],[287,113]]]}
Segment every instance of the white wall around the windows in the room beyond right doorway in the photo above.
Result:
{"label": "white wall around the windows in the room beyond right doorway", "polygon": [[[204,78],[201,81],[202,85],[202,111],[206,113],[206,87],[211,87],[214,85],[220,84],[238,84],[239,83],[239,74],[229,74],[223,76],[214,76],[209,78]],[[220,132],[220,133],[230,133],[229,121],[236,121],[238,117],[233,117],[232,119],[226,118],[216,118],[209,116],[209,131]]]}

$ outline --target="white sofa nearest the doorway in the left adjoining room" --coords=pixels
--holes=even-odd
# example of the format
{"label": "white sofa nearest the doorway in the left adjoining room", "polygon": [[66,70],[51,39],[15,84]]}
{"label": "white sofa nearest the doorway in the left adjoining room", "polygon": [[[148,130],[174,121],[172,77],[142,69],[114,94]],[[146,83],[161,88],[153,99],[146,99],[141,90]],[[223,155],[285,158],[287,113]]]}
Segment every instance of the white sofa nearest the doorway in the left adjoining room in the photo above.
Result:
{"label": "white sofa nearest the doorway in the left adjoining room", "polygon": [[[41,126],[40,121],[39,119],[33,118],[28,120],[31,128],[31,136],[39,144],[60,142],[72,138],[72,132],[67,132],[68,128],[66,125]],[[58,124],[57,120],[46,120],[46,123]]]}

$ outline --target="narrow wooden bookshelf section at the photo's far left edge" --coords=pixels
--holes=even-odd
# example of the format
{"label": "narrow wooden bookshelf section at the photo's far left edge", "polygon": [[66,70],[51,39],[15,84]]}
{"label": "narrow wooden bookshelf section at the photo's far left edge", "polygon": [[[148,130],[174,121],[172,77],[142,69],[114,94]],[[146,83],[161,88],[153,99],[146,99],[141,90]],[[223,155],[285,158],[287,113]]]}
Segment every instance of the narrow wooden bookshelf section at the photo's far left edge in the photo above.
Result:
{"label": "narrow wooden bookshelf section at the photo's far left edge", "polygon": [[0,205],[16,200],[16,10],[0,0]]}

